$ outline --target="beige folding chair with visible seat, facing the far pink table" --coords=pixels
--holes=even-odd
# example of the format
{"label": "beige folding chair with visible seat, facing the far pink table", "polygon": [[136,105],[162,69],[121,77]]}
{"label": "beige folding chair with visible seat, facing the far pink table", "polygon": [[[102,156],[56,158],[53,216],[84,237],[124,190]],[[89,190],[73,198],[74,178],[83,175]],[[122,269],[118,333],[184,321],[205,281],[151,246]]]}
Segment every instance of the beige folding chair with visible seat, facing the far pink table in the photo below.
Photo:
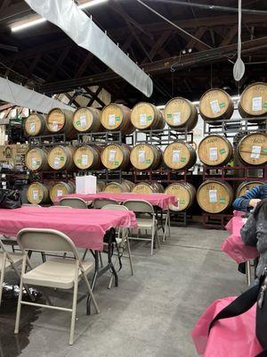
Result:
{"label": "beige folding chair with visible seat, facing the far pink table", "polygon": [[142,213],[141,217],[137,217],[138,229],[150,229],[151,239],[142,237],[129,237],[129,239],[143,240],[151,242],[151,255],[153,255],[154,239],[157,237],[158,248],[160,248],[160,242],[158,237],[158,221],[152,204],[142,200],[127,200],[123,203],[129,211],[135,213]]}

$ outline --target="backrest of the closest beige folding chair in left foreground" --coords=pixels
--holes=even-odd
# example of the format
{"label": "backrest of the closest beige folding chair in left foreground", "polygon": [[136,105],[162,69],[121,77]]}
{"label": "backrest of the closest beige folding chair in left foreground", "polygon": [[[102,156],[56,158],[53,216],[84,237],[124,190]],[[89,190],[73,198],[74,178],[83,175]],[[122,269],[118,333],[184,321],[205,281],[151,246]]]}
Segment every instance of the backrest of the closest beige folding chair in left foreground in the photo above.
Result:
{"label": "backrest of the closest beige folding chair in left foreground", "polygon": [[64,233],[55,229],[23,228],[17,236],[18,245],[25,251],[74,253],[79,260],[76,246]]}

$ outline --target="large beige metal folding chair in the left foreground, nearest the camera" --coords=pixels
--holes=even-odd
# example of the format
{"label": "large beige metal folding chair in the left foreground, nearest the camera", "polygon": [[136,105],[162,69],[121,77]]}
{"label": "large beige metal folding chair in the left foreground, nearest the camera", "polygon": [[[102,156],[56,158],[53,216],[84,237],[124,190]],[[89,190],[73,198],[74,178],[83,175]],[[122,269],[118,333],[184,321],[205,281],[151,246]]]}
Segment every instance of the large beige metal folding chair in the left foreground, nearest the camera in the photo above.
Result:
{"label": "large beige metal folding chair in the left foreground, nearest the camera", "polygon": [[[69,345],[74,342],[74,329],[77,311],[77,288],[78,282],[83,278],[88,293],[91,295],[93,305],[99,313],[98,305],[95,301],[91,286],[87,279],[89,271],[93,270],[93,262],[81,262],[77,253],[76,246],[72,240],[54,229],[24,228],[21,229],[18,237],[18,244],[23,253],[22,270],[20,278],[20,295],[18,300],[15,334],[19,333],[21,305],[41,306],[52,310],[71,312],[71,325]],[[27,266],[30,267],[26,251],[44,251],[47,253],[69,252],[73,253],[75,259],[53,258],[38,265],[33,270],[26,272]],[[41,303],[29,303],[22,300],[22,291],[25,284],[34,286],[47,286],[59,289],[73,288],[72,308],[67,309],[60,306],[44,305]]]}

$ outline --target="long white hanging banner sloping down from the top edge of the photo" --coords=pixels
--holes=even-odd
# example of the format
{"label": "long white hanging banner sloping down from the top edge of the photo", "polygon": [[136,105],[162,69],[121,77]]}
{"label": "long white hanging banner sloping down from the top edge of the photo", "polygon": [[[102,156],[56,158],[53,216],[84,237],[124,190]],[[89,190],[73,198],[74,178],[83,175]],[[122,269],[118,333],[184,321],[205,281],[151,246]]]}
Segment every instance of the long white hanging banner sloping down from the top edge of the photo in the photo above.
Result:
{"label": "long white hanging banner sloping down from the top edge of the photo", "polygon": [[44,19],[62,29],[78,46],[94,54],[144,95],[153,92],[150,77],[135,64],[73,0],[25,0]]}

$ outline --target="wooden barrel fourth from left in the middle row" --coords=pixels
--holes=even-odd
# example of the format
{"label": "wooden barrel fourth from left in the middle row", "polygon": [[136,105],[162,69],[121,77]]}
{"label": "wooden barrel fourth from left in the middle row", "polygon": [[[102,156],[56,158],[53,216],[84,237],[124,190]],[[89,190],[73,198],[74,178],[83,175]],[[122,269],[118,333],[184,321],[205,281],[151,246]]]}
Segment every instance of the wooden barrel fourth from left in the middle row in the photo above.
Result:
{"label": "wooden barrel fourth from left in the middle row", "polygon": [[127,170],[131,148],[128,145],[109,144],[101,152],[101,162],[109,170]]}

